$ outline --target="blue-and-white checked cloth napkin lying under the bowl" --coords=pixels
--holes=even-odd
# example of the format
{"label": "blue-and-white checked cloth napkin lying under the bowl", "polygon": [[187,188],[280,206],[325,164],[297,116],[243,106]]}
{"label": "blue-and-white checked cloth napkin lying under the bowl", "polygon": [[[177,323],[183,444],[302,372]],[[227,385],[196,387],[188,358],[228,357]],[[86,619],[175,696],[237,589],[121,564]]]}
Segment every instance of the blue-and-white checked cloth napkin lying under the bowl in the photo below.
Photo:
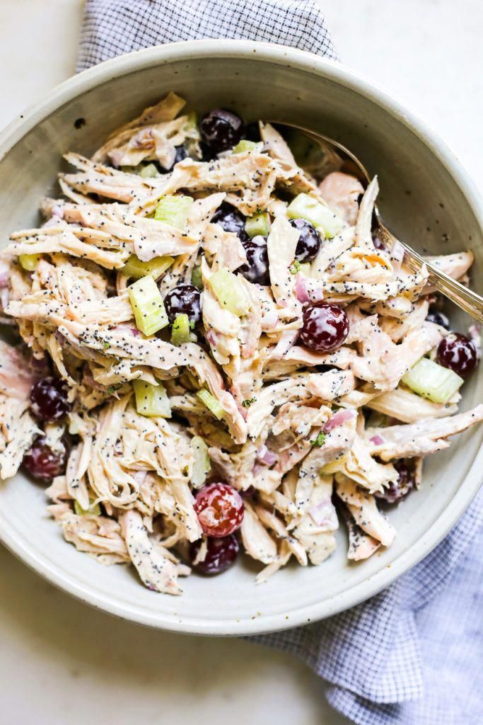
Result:
{"label": "blue-and-white checked cloth napkin lying under the bowl", "polygon": [[[312,0],[87,0],[78,69],[193,38],[285,43],[335,58]],[[483,713],[483,495],[419,565],[371,600],[251,641],[299,655],[361,725],[466,725]]]}

